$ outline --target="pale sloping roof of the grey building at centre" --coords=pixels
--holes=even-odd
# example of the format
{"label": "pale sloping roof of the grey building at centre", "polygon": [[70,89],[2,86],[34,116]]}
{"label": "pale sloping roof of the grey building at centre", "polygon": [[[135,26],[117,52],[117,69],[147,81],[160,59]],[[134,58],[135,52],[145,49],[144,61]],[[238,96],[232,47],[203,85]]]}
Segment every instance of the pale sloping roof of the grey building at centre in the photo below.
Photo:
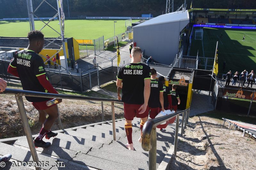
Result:
{"label": "pale sloping roof of the grey building at centre", "polygon": [[189,20],[188,10],[186,10],[185,12],[179,11],[179,13],[172,12],[164,15],[159,15],[156,18],[149,19],[148,21],[145,21],[137,26],[133,26],[133,28],[184,20]]}

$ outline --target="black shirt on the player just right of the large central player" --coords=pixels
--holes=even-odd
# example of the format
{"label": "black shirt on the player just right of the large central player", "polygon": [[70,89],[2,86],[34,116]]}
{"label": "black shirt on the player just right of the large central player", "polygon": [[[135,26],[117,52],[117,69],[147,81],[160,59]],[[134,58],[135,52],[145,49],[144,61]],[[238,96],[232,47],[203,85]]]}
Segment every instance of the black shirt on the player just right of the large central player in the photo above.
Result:
{"label": "black shirt on the player just right of the large central player", "polygon": [[150,82],[150,96],[148,100],[148,107],[156,108],[159,107],[159,93],[164,92],[162,82],[151,79]]}

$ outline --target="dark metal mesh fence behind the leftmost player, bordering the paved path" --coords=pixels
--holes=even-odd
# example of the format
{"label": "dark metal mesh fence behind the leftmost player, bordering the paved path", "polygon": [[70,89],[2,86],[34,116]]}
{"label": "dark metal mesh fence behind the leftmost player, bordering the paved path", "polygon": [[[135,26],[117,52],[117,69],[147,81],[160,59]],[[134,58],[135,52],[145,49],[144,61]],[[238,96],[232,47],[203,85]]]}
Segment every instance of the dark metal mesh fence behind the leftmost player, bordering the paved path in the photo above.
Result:
{"label": "dark metal mesh fence behind the leftmost player, bordering the paved path", "polygon": [[[10,62],[8,61],[0,61],[0,77],[8,81],[16,80],[20,82],[20,78],[12,76],[7,72],[9,64]],[[104,68],[98,66],[95,70],[90,72],[81,71],[78,74],[60,72],[54,69],[45,71],[53,87],[67,91],[84,92],[116,80],[117,66],[109,65]]]}

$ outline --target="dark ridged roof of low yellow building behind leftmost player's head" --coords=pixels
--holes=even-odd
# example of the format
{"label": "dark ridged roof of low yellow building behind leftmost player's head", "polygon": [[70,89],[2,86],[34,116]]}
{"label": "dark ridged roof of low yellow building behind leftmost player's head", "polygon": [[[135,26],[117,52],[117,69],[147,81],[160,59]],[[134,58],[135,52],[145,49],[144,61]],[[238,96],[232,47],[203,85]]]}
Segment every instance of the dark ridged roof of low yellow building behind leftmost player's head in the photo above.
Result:
{"label": "dark ridged roof of low yellow building behind leftmost player's head", "polygon": [[[45,38],[46,40],[54,40],[55,38]],[[44,47],[47,46],[50,42],[44,41]],[[59,45],[59,46],[58,46]],[[54,43],[51,43],[44,49],[60,49],[62,46],[61,39],[57,39]],[[22,37],[0,37],[0,47],[2,48],[27,48],[28,47],[28,38]]]}

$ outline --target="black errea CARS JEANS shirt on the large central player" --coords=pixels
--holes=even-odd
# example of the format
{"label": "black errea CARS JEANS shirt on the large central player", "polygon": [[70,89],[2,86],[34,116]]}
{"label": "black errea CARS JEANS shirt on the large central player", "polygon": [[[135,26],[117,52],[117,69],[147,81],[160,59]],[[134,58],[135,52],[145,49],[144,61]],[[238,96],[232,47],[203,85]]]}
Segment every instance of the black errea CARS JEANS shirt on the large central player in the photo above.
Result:
{"label": "black errea CARS JEANS shirt on the large central player", "polygon": [[128,104],[144,103],[144,79],[150,79],[150,67],[142,63],[122,65],[117,78],[123,80],[122,101]]}

